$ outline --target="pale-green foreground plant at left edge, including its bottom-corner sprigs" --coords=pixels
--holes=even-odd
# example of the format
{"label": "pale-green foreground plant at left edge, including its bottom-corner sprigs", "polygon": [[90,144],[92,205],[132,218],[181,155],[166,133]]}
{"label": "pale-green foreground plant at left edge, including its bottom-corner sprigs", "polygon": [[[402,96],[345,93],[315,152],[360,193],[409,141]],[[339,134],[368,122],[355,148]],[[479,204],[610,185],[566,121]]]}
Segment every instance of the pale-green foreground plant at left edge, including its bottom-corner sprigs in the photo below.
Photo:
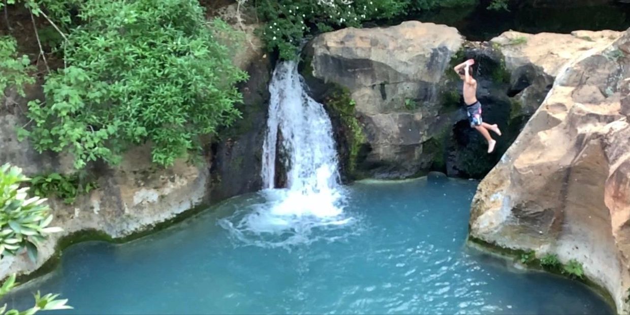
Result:
{"label": "pale-green foreground plant at left edge, including its bottom-corner sprigs", "polygon": [[[28,187],[20,188],[28,178],[16,166],[4,164],[0,168],[0,259],[14,256],[26,249],[31,260],[37,258],[37,244],[47,234],[59,232],[59,227],[50,227],[52,214],[45,205],[45,198],[28,197]],[[0,299],[15,287],[15,275],[11,275],[0,287]],[[26,311],[0,307],[0,314],[35,314],[37,311],[71,309],[67,299],[57,299],[58,294],[35,294],[35,306]]]}

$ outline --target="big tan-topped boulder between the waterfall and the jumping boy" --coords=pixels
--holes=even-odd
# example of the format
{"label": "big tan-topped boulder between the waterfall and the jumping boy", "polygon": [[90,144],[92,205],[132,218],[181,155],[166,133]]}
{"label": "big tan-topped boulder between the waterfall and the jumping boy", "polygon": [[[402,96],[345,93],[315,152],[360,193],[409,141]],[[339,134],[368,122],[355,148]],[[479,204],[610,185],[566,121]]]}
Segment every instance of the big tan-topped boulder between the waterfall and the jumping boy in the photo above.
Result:
{"label": "big tan-topped boulder between the waterfall and the jumping boy", "polygon": [[438,130],[440,89],[464,42],[455,28],[417,21],[389,28],[347,28],[312,42],[312,75],[348,88],[357,103],[374,177],[427,168],[423,144]]}

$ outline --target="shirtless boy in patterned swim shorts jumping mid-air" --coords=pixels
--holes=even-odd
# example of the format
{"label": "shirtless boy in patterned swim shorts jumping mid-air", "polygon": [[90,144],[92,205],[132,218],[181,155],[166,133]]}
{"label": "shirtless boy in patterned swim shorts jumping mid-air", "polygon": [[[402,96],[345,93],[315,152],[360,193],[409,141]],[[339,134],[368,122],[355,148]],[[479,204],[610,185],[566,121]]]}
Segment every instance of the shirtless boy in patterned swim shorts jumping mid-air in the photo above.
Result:
{"label": "shirtless boy in patterned swim shorts jumping mid-air", "polygon": [[488,153],[491,153],[495,151],[496,141],[490,137],[488,130],[492,130],[498,135],[501,135],[501,130],[499,130],[496,123],[490,125],[481,120],[481,103],[477,100],[477,81],[473,79],[472,69],[470,68],[473,64],[474,60],[468,59],[455,66],[454,70],[464,81],[464,103],[466,103],[466,112],[468,113],[468,121],[471,123],[471,128],[477,129],[488,140]]}

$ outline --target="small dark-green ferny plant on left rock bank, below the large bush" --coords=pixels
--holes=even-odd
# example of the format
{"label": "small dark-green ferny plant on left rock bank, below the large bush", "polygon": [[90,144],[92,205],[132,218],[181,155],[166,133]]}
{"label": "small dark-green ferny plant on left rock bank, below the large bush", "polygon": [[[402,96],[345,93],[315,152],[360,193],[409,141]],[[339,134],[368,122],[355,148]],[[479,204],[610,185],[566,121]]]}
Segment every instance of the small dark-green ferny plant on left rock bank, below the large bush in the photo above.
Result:
{"label": "small dark-green ferny plant on left rock bank, below the large bush", "polygon": [[80,178],[78,173],[74,175],[61,175],[50,173],[31,178],[31,192],[39,197],[57,197],[65,203],[74,203],[76,197],[87,194],[98,187],[95,181],[87,181]]}

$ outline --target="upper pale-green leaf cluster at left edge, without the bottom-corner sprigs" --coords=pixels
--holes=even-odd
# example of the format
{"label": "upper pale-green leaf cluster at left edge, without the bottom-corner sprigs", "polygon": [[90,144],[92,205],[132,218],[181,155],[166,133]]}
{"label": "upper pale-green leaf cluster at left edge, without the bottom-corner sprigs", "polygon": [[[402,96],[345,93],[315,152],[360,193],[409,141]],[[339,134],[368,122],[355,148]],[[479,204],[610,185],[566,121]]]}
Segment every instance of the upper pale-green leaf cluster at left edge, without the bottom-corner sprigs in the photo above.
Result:
{"label": "upper pale-green leaf cluster at left edge, without the bottom-corner sprigs", "polygon": [[4,164],[0,168],[0,256],[16,255],[26,248],[31,259],[37,258],[37,244],[45,235],[59,232],[59,227],[49,227],[52,221],[46,199],[28,198],[28,187],[20,184],[28,181],[22,170]]}

